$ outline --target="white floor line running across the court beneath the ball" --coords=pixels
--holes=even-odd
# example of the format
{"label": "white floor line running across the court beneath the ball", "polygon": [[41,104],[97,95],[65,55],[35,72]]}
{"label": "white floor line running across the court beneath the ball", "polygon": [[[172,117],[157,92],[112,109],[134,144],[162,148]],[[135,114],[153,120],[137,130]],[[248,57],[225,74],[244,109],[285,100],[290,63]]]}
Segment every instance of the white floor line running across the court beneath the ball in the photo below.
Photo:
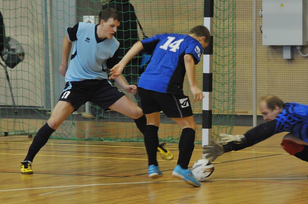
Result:
{"label": "white floor line running across the court beneath the ball", "polygon": [[[262,179],[307,179],[307,177],[302,178],[250,178],[250,179],[210,179],[210,181],[227,181],[227,180],[262,180]],[[72,186],[50,186],[50,187],[37,187],[37,188],[17,188],[17,189],[8,189],[0,190],[3,191],[16,191],[16,190],[33,190],[33,189],[47,189],[47,188],[65,188],[65,187],[84,187],[84,186],[107,186],[107,185],[120,185],[120,184],[140,184],[140,183],[163,183],[163,182],[182,182],[182,181],[148,181],[148,182],[127,182],[127,183],[99,183],[99,184],[88,184],[88,185],[72,185]],[[71,189],[72,189],[71,188]],[[68,189],[63,189],[68,190]],[[60,190],[56,190],[60,191]],[[54,192],[56,192],[54,191]],[[52,192],[51,192],[52,193]],[[41,194],[44,195],[44,194]]]}

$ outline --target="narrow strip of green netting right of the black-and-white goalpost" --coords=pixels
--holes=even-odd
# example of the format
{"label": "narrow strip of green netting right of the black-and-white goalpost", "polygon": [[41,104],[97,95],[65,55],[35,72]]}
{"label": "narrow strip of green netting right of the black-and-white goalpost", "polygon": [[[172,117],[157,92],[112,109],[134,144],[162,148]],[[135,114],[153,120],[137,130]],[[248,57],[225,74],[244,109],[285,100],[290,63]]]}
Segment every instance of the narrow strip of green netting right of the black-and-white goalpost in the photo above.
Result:
{"label": "narrow strip of green netting right of the black-and-white goalpost", "polygon": [[235,109],[235,0],[214,1],[212,136],[231,134]]}

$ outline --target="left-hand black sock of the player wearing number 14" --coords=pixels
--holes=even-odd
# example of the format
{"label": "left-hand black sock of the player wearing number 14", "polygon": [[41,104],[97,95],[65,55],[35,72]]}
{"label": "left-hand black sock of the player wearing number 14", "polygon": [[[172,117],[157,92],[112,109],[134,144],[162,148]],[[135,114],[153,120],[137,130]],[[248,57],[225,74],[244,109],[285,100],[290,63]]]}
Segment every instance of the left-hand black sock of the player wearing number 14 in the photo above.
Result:
{"label": "left-hand black sock of the player wearing number 14", "polygon": [[157,146],[158,146],[158,127],[155,125],[147,125],[144,133],[144,145],[148,153],[149,166],[157,163]]}

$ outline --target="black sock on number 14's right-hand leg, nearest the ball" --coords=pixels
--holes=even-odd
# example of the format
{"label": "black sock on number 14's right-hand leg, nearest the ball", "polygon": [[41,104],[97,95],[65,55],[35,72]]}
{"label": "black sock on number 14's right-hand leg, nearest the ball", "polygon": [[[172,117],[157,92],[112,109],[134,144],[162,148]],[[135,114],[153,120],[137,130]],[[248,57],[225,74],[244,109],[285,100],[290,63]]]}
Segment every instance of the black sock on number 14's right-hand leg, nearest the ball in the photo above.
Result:
{"label": "black sock on number 14's right-hand leg, nearest the ball", "polygon": [[183,169],[188,169],[188,163],[193,155],[193,149],[195,147],[195,134],[196,132],[192,128],[184,128],[181,134],[179,142],[179,164]]}

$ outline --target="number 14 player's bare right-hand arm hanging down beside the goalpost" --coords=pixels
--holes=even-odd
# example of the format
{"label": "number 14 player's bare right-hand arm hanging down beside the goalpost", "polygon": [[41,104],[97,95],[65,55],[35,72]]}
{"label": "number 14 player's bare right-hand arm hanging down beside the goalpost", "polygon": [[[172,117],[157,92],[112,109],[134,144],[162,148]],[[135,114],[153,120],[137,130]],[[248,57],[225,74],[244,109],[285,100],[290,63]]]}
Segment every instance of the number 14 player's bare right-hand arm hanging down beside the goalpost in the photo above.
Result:
{"label": "number 14 player's bare right-hand arm hanging down beside the goalpost", "polygon": [[184,55],[184,63],[190,90],[193,94],[193,101],[202,100],[204,98],[204,95],[196,83],[195,62],[193,60],[193,57],[190,54]]}

